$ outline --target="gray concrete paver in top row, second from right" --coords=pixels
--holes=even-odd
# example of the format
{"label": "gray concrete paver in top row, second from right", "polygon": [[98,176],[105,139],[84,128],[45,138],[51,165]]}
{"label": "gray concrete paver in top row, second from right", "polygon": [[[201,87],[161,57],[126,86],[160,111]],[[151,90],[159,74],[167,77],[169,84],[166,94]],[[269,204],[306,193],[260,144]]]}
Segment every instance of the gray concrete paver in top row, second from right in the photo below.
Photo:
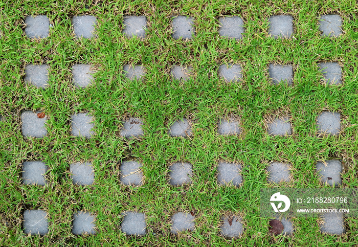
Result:
{"label": "gray concrete paver in top row, second from right", "polygon": [[273,15],[269,22],[269,34],[275,39],[290,38],[294,33],[293,18],[290,15]]}

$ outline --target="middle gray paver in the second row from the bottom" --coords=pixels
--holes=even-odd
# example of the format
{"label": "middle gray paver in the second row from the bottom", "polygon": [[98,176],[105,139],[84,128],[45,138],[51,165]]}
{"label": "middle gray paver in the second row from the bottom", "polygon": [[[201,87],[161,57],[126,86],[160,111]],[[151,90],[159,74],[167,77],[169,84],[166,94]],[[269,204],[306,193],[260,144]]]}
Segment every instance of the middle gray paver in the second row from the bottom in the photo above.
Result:
{"label": "middle gray paver in the second row from the bottom", "polygon": [[174,163],[169,167],[169,184],[174,186],[181,186],[184,184],[191,184],[191,177],[193,176],[192,165],[189,163]]}

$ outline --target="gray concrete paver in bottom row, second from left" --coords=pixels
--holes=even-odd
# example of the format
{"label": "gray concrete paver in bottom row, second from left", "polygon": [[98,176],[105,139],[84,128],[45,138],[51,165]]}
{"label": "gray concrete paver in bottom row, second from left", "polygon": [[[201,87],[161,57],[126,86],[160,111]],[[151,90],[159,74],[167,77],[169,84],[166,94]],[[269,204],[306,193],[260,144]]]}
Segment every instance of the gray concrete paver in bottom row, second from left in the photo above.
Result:
{"label": "gray concrete paver in bottom row, second from left", "polygon": [[96,234],[96,216],[89,212],[77,211],[73,214],[72,233],[75,235]]}

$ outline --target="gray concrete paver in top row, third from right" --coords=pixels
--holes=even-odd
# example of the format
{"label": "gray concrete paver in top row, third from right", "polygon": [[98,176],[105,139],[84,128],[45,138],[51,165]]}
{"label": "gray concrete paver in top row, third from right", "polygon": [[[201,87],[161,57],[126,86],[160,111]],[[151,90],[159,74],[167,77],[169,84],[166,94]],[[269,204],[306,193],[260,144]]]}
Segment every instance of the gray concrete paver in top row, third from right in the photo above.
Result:
{"label": "gray concrete paver in top row, third from right", "polygon": [[240,39],[245,32],[240,16],[224,16],[219,18],[219,35],[229,39]]}

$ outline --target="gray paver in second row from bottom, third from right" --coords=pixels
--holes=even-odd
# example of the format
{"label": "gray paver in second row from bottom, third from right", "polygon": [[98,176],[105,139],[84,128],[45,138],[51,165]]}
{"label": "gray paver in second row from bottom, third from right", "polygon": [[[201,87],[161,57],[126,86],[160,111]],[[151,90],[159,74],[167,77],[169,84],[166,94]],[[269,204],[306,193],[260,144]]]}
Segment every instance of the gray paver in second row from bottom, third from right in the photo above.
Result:
{"label": "gray paver in second row from bottom, third from right", "polygon": [[219,162],[217,170],[217,181],[219,184],[230,184],[238,187],[242,183],[241,164]]}

